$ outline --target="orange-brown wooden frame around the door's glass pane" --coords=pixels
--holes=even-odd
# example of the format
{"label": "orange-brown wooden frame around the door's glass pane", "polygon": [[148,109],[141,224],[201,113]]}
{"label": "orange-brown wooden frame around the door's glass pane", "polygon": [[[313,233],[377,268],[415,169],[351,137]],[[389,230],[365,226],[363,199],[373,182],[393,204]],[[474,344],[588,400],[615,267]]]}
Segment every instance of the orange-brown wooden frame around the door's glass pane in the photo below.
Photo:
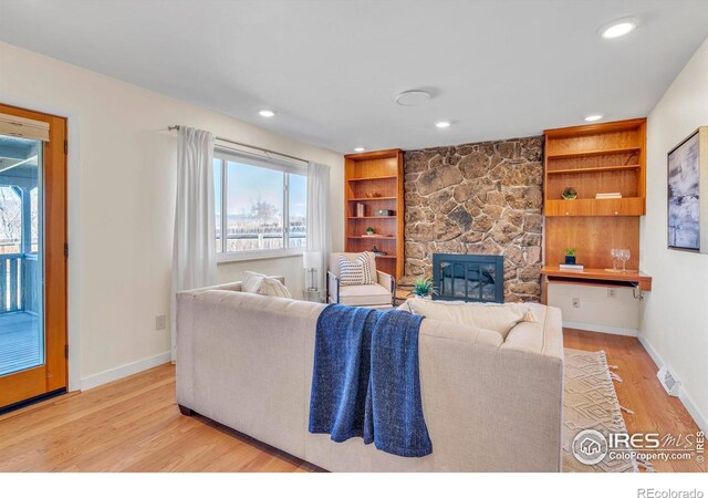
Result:
{"label": "orange-brown wooden frame around the door's glass pane", "polygon": [[[0,104],[0,112],[50,125],[44,143],[44,364],[0,377],[0,407],[69,388],[67,349],[67,120],[52,114]],[[12,391],[12,378],[30,380],[31,388]],[[2,385],[3,378],[7,386]],[[17,377],[15,377],[17,378]],[[10,387],[10,388],[4,388]],[[41,390],[41,392],[37,392]],[[6,392],[6,396],[2,393]],[[14,397],[23,396],[20,400]]]}

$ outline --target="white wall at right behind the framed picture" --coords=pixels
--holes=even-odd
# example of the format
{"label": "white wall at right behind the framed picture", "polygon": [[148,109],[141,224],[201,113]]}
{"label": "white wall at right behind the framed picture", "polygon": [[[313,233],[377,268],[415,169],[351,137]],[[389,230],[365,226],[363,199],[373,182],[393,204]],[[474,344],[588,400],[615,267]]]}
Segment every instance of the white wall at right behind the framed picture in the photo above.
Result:
{"label": "white wall at right behind the framed picture", "polygon": [[641,264],[653,277],[653,290],[646,294],[639,335],[674,369],[683,382],[683,401],[708,430],[708,255],[666,247],[666,154],[702,125],[708,125],[708,41],[648,116]]}

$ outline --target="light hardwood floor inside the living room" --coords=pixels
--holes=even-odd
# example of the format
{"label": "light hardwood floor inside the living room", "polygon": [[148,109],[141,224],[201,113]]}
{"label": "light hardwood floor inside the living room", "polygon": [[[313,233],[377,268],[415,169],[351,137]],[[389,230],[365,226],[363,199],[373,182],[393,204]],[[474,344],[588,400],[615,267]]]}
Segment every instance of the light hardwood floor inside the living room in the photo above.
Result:
{"label": "light hardwood floor inside the living room", "polygon": [[[697,430],[656,380],[636,339],[565,331],[566,347],[605,350],[624,380],[620,403],[629,432]],[[658,471],[705,471],[656,463]],[[175,404],[175,371],[163,365],[81,394],[0,416],[0,471],[312,471],[316,467]]]}

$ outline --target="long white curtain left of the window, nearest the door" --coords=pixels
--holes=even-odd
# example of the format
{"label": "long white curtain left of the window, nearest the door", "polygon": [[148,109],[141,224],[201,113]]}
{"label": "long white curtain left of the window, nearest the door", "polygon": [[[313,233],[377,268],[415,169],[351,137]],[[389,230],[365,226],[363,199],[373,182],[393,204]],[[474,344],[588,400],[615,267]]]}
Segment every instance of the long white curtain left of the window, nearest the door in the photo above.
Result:
{"label": "long white curtain left of the window, nearest the door", "polygon": [[181,126],[177,137],[177,207],[173,256],[171,346],[177,346],[176,294],[216,283],[214,134]]}

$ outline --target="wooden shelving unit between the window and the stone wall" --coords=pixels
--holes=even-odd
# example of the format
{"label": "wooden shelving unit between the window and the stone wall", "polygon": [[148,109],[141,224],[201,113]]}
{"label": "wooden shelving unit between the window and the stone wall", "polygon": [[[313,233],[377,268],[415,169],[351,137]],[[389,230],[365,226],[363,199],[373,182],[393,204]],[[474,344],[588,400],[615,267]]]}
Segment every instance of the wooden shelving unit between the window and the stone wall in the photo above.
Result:
{"label": "wooden shelving unit between the window and the stone wall", "polygon": [[[376,268],[396,279],[404,263],[403,175],[403,152],[397,148],[344,156],[345,250],[371,251],[376,246],[386,252],[376,258]],[[362,217],[356,216],[360,203]],[[376,216],[378,209],[392,210],[393,216]],[[367,227],[375,237],[363,237]]]}

